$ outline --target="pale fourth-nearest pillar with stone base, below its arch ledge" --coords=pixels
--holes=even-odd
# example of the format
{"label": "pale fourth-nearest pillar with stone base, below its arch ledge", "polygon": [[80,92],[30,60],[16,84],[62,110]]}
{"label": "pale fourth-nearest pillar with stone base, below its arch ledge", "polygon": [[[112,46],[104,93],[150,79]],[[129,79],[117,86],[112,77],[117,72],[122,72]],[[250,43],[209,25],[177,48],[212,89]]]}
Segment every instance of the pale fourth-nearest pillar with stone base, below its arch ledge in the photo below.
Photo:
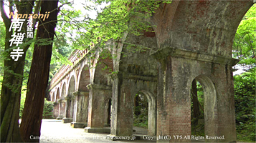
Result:
{"label": "pale fourth-nearest pillar with stone base, below its arch ledge", "polygon": [[71,126],[74,128],[87,127],[89,92],[74,92],[73,94],[75,95],[75,106],[74,122],[71,122]]}

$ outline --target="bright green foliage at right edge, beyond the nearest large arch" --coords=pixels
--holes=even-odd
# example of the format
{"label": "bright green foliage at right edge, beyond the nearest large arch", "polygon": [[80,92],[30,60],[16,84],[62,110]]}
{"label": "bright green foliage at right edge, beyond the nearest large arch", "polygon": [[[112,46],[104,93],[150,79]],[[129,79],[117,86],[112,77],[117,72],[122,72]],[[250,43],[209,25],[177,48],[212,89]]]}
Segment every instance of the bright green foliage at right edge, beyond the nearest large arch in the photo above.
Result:
{"label": "bright green foliage at right edge, beyond the nearest large arch", "polygon": [[234,76],[237,139],[255,142],[256,4],[245,14],[234,36],[233,57],[245,73]]}

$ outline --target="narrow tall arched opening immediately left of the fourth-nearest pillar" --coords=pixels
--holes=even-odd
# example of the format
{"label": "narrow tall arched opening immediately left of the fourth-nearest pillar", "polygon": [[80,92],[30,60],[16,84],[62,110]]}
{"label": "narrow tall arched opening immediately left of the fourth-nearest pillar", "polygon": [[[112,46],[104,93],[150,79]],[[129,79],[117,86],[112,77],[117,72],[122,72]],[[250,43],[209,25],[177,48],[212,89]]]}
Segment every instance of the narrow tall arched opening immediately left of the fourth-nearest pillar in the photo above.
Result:
{"label": "narrow tall arched opening immediately left of the fourth-nearest pillar", "polygon": [[73,112],[74,112],[74,98],[73,98],[73,92],[75,92],[75,77],[72,76],[70,79],[70,83],[68,86],[67,91],[67,108],[66,108],[66,118],[73,118]]}

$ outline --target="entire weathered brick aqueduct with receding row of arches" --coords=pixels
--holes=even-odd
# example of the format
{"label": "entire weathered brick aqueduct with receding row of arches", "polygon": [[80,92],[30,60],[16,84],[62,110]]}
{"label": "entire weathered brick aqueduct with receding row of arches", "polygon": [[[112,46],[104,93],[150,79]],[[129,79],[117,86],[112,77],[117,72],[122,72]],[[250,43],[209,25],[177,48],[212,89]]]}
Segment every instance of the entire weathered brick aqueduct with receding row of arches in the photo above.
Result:
{"label": "entire weathered brick aqueduct with receding row of arches", "polygon": [[[196,79],[204,89],[204,132],[224,135],[209,142],[236,142],[232,66],[237,60],[232,59],[232,41],[254,3],[192,0],[161,4],[150,19],[156,25],[155,33],[123,37],[148,50],[133,53],[127,44],[109,41],[105,51],[74,51],[69,58],[73,65],[63,65],[50,84],[49,96],[56,102],[54,117],[72,122],[73,127],[85,127],[86,132],[131,136],[133,98],[143,92],[148,98],[148,135],[184,137],[191,135],[190,89]],[[101,59],[103,52],[115,58]],[[109,122],[110,130],[105,128]]]}

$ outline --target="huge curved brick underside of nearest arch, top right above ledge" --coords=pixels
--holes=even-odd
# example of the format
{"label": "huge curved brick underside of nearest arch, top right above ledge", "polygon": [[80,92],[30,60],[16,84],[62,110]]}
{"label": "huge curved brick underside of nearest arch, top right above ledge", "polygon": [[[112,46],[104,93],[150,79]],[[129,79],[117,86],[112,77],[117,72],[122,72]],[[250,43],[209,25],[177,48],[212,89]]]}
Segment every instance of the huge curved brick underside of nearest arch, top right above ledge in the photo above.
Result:
{"label": "huge curved brick underside of nearest arch, top right above ledge", "polygon": [[237,26],[252,4],[252,0],[162,4],[153,15],[158,47],[231,57]]}

